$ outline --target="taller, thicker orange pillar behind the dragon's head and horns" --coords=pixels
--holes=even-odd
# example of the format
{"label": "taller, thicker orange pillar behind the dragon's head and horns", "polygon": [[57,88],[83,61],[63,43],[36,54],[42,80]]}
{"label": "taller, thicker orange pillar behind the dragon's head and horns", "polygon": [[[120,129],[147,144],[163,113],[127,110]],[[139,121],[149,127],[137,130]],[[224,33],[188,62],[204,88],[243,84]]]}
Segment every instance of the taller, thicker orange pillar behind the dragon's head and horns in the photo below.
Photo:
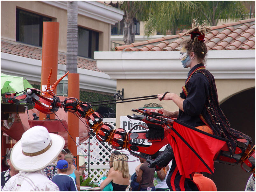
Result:
{"label": "taller, thicker orange pillar behind the dragon's head and horns", "polygon": [[[59,23],[43,22],[43,45],[42,45],[42,70],[41,70],[41,90],[46,90],[48,76],[52,69],[50,85],[57,80],[58,73],[58,49],[59,49]],[[56,89],[54,90],[56,94]],[[39,113],[39,120],[46,119],[46,114]],[[50,119],[55,119],[51,114]]]}

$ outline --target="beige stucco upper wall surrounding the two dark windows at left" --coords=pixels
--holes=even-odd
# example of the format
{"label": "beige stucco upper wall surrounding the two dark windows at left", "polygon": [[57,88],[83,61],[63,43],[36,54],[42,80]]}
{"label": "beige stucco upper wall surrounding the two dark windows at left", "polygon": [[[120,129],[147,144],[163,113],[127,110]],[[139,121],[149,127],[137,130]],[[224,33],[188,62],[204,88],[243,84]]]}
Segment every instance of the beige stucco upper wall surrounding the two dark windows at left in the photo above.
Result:
{"label": "beige stucco upper wall surrounding the two dark windows at left", "polygon": [[[40,1],[1,1],[1,38],[16,41],[16,8],[50,17],[60,23],[59,51],[66,52],[67,46],[67,10],[63,10]],[[99,34],[99,51],[109,51],[110,24],[78,15],[78,25]]]}

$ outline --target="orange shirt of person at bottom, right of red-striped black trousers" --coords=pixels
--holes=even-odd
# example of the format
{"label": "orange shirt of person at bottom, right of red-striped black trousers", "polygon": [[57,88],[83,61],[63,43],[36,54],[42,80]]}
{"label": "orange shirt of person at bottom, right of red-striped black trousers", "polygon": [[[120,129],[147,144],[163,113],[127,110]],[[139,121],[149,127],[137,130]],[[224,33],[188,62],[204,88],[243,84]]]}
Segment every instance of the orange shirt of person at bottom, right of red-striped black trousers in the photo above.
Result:
{"label": "orange shirt of person at bottom, right of red-striped black trousers", "polygon": [[200,191],[217,191],[215,183],[208,177],[202,174],[195,174],[193,181],[197,184]]}

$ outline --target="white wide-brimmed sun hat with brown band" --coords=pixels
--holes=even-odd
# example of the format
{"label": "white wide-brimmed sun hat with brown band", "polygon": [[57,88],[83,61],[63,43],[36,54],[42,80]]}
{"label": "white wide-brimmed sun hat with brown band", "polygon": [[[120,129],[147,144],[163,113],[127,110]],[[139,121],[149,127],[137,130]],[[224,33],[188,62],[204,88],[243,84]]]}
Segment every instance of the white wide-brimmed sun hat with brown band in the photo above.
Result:
{"label": "white wide-brimmed sun hat with brown band", "polygon": [[14,168],[31,172],[45,168],[64,147],[64,139],[49,133],[43,126],[28,129],[11,150],[11,163]]}

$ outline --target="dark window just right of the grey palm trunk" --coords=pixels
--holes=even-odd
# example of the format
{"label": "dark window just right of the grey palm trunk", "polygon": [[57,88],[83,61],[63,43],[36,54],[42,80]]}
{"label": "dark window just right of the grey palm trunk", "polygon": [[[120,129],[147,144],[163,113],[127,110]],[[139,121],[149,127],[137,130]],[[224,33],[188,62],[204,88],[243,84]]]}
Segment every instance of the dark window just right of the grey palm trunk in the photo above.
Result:
{"label": "dark window just right of the grey palm trunk", "polygon": [[93,58],[93,52],[99,51],[99,33],[78,27],[78,56]]}

